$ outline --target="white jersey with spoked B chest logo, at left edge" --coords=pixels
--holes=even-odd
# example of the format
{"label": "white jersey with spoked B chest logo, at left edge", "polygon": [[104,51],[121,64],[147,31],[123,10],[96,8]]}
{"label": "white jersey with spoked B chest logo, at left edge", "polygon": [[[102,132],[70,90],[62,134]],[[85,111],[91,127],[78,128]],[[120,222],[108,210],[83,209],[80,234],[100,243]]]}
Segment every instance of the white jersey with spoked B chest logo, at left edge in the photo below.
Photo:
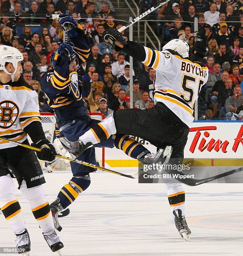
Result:
{"label": "white jersey with spoked B chest logo, at left edge", "polygon": [[[23,84],[0,84],[0,136],[20,143],[27,139],[23,129],[33,121],[40,122],[38,95]],[[15,146],[0,140],[0,149]]]}

